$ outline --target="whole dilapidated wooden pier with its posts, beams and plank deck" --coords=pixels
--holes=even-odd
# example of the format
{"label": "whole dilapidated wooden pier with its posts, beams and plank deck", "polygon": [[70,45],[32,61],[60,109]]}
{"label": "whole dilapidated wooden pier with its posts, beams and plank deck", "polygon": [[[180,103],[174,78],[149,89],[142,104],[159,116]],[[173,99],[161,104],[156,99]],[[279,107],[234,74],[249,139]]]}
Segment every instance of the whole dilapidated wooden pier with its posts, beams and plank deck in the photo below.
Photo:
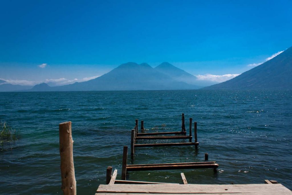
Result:
{"label": "whole dilapidated wooden pier with its posts, beams and plank deck", "polygon": [[[191,120],[190,120],[191,121]],[[136,124],[138,120],[136,121]],[[143,123],[141,123],[143,124]],[[190,125],[191,126],[191,125]],[[141,130],[144,127],[141,125]],[[132,135],[136,134],[138,125],[132,130]],[[191,128],[190,128],[191,129]],[[196,129],[196,126],[195,126]],[[184,130],[184,125],[182,125]],[[195,142],[197,143],[197,132],[195,131]],[[191,131],[189,138],[192,136]],[[60,157],[61,157],[61,178],[62,190],[64,195],[76,195],[76,180],[73,162],[73,140],[71,122],[64,122],[59,125],[60,137]],[[131,143],[135,142],[134,137],[131,137]],[[190,142],[192,143],[192,142]],[[189,144],[190,144],[189,143]],[[173,143],[170,143],[173,144]],[[183,143],[179,143],[183,144]],[[141,144],[140,144],[141,145]],[[131,147],[134,146],[131,144]],[[144,171],[144,170],[173,170],[173,169],[196,169],[196,168],[213,168],[216,170],[218,164],[215,161],[208,161],[208,153],[205,153],[204,162],[189,162],[189,163],[160,163],[160,164],[140,164],[128,165],[128,146],[123,148],[122,159],[122,178],[117,180],[117,172],[112,167],[107,167],[106,184],[100,184],[95,195],[223,195],[223,194],[246,194],[246,195],[292,195],[292,191],[278,184],[275,180],[265,180],[265,184],[188,184],[184,173],[180,173],[181,182],[178,183],[162,183],[162,182],[143,182],[126,180],[126,173],[129,171]],[[69,177],[68,177],[69,173]]]}

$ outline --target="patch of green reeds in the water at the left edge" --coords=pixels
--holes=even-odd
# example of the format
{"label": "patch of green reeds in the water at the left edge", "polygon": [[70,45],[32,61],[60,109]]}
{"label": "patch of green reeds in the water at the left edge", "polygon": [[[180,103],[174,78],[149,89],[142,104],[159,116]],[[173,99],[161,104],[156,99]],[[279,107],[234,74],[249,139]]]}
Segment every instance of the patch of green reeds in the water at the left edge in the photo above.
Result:
{"label": "patch of green reeds in the water at the left edge", "polygon": [[18,139],[18,132],[15,129],[12,129],[12,127],[10,127],[6,122],[2,122],[0,120],[0,151],[6,150],[4,148],[5,145],[15,142]]}

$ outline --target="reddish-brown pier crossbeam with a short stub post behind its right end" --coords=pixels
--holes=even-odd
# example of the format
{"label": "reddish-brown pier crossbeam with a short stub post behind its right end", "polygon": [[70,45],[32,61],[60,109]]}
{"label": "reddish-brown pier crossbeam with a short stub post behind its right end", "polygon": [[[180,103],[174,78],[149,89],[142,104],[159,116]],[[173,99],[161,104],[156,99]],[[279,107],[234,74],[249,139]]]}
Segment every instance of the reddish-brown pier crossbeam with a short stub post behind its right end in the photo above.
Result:
{"label": "reddish-brown pier crossbeam with a short stub post behind its right end", "polygon": [[217,163],[210,164],[188,164],[188,165],[154,165],[127,167],[127,171],[148,171],[148,170],[175,170],[175,169],[205,169],[218,168]]}

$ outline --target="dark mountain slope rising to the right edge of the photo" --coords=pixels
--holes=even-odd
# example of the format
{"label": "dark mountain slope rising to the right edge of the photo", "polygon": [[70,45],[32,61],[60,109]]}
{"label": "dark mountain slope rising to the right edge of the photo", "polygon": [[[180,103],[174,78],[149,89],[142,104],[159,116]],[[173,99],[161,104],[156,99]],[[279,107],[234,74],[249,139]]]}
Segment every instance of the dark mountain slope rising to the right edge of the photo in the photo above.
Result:
{"label": "dark mountain slope rising to the right edge of the photo", "polygon": [[203,89],[292,89],[292,47],[233,79]]}

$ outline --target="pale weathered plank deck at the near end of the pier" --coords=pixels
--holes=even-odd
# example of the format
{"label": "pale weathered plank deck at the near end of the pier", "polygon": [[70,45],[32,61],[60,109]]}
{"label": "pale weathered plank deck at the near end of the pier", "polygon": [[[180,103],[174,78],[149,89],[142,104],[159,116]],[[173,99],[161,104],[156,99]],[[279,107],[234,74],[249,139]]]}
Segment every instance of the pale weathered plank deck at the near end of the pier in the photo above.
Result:
{"label": "pale weathered plank deck at the near end of the pier", "polygon": [[198,195],[198,194],[248,194],[248,195],[292,195],[292,191],[282,184],[101,184],[95,195],[112,195],[112,194],[178,194],[178,195]]}

